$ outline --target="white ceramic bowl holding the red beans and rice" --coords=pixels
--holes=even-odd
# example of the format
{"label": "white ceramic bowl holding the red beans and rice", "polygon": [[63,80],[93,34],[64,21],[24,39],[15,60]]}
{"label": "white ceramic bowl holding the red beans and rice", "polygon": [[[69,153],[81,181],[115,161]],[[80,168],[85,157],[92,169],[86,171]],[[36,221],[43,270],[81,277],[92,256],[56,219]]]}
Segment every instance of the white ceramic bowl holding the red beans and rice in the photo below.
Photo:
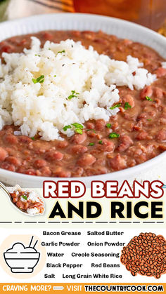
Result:
{"label": "white ceramic bowl holding the red beans and rice", "polygon": [[[78,30],[103,30],[108,34],[115,34],[120,38],[132,39],[133,41],[141,42],[158,51],[163,58],[166,59],[166,39],[164,36],[136,25],[132,22],[119,20],[117,18],[108,18],[101,15],[90,15],[82,13],[59,13],[48,15],[35,15],[30,18],[23,18],[10,22],[2,22],[0,25],[0,41],[11,36],[19,34],[29,34],[39,32],[47,29],[78,29]],[[138,166],[127,168],[115,173],[108,173],[106,175],[94,175],[91,177],[71,178],[71,180],[82,180],[87,187],[89,187],[91,180],[122,180],[129,179],[131,175],[138,175],[143,170],[158,166],[164,161],[166,152],[159,156],[141,163]],[[46,178],[37,177],[33,175],[23,175],[20,173],[13,173],[5,171],[0,168],[0,180],[6,182],[8,185],[20,185],[22,187],[42,187],[44,180],[66,180],[66,178]],[[69,180],[69,179],[68,179]]]}

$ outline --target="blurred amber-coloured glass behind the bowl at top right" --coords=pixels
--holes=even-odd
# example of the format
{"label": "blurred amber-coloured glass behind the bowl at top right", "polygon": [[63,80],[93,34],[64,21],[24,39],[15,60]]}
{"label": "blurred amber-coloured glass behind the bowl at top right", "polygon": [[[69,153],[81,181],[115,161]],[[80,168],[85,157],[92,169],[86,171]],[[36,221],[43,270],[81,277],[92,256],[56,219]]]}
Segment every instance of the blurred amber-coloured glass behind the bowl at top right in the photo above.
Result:
{"label": "blurred amber-coloured glass behind the bowl at top right", "polygon": [[166,0],[74,0],[76,12],[122,18],[159,29],[166,18]]}

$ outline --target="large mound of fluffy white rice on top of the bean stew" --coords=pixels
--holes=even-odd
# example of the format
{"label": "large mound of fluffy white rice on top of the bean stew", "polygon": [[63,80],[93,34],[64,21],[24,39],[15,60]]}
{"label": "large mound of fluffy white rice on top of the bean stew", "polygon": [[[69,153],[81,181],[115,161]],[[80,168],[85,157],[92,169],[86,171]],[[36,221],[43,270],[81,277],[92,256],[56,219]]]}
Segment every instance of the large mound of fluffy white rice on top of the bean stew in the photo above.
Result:
{"label": "large mound of fluffy white rice on top of the bean stew", "polygon": [[[63,131],[71,123],[108,121],[117,114],[118,108],[110,109],[120,100],[116,86],[139,90],[156,79],[137,58],[111,60],[70,39],[60,44],[46,41],[40,48],[39,39],[32,37],[30,50],[2,56],[6,64],[0,64],[0,129],[14,123],[20,126],[15,135],[39,133],[47,141],[63,140],[60,132],[73,135],[73,126]],[[41,75],[43,83],[32,81]],[[72,91],[77,97],[68,99]]]}

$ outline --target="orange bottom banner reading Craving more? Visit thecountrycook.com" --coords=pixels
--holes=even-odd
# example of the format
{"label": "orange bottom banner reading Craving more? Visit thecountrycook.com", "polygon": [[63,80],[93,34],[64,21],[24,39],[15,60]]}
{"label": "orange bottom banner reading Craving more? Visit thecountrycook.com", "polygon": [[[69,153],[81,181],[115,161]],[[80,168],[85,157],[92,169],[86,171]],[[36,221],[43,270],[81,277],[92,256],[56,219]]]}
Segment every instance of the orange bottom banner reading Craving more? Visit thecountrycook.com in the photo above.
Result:
{"label": "orange bottom banner reading Craving more? Visit thecountrycook.com", "polygon": [[0,283],[0,292],[166,293],[166,283]]}

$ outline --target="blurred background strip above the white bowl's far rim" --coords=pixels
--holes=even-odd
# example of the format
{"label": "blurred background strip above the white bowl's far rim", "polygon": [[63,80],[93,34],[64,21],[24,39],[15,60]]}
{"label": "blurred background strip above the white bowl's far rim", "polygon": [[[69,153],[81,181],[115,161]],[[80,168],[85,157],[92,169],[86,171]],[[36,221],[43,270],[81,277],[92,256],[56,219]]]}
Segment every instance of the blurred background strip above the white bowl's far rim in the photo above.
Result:
{"label": "blurred background strip above the white bowl's far rim", "polygon": [[54,12],[109,15],[166,35],[166,0],[0,0],[0,21]]}

